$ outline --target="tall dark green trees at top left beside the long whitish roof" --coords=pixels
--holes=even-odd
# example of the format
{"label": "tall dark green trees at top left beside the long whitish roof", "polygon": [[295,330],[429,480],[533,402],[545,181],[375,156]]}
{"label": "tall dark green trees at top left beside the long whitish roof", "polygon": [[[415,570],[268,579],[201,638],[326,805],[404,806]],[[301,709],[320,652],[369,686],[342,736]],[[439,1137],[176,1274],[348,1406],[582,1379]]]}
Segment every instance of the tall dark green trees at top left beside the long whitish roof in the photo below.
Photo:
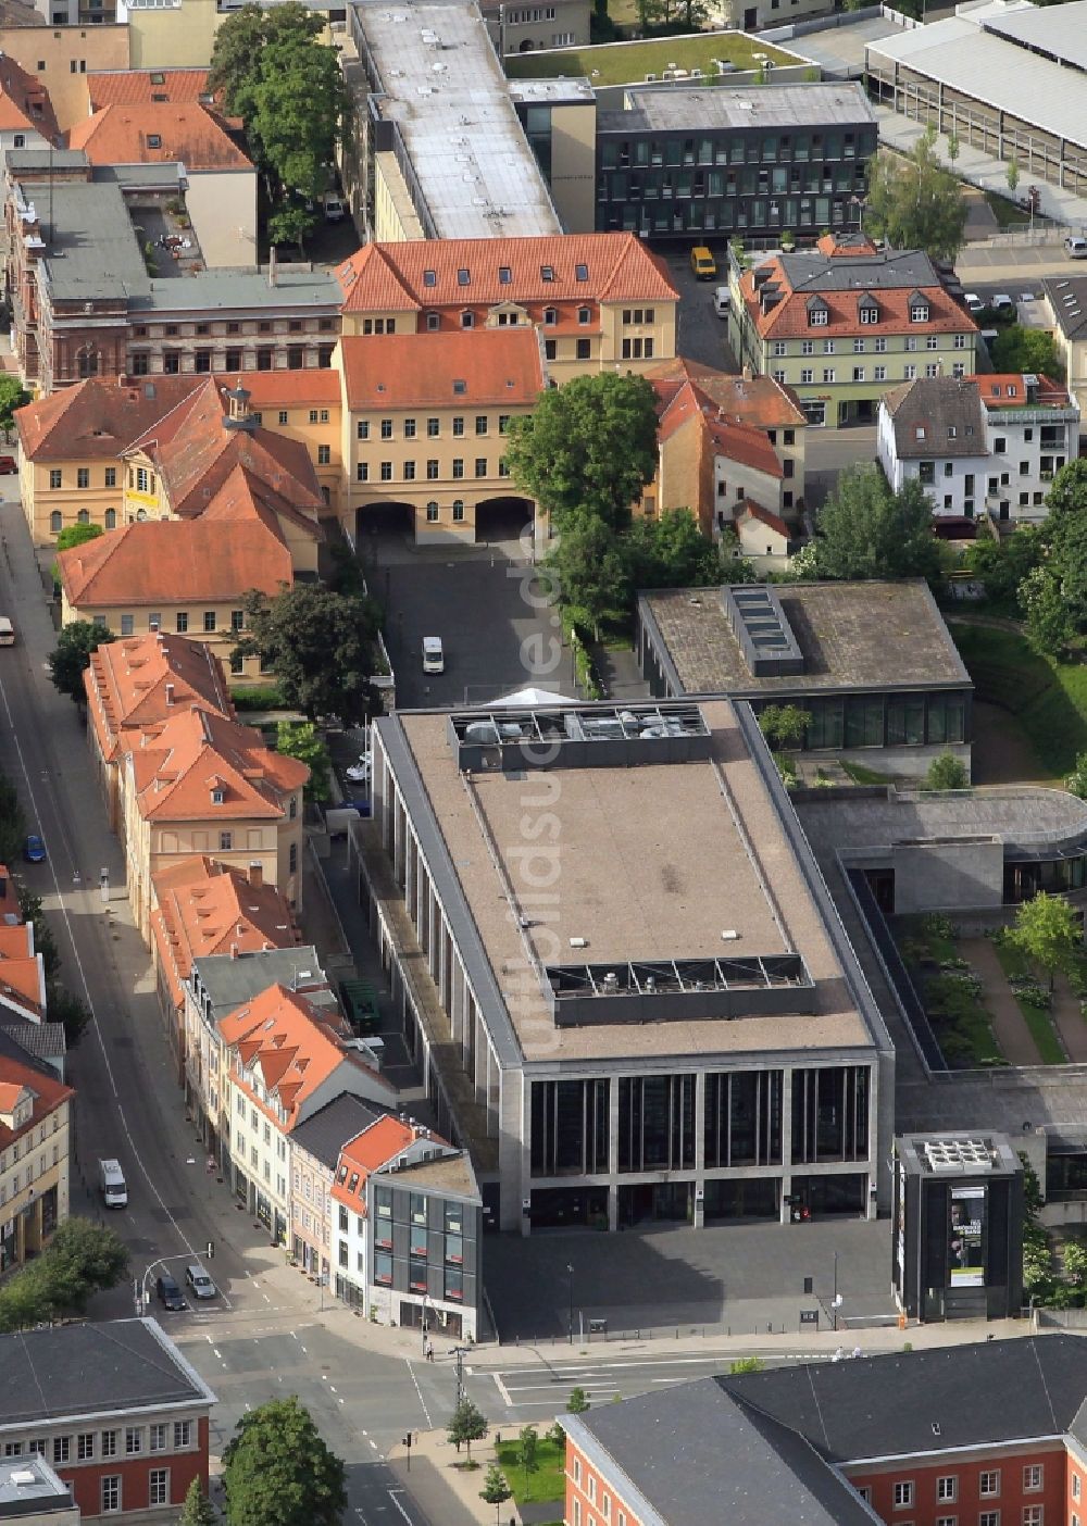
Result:
{"label": "tall dark green trees at top left beside the long whitish roof", "polygon": [[324,26],[324,17],[284,0],[243,6],[215,35],[208,84],[243,119],[273,183],[272,243],[301,244],[316,223],[305,200],[330,185],[347,95],[336,49],[319,41]]}

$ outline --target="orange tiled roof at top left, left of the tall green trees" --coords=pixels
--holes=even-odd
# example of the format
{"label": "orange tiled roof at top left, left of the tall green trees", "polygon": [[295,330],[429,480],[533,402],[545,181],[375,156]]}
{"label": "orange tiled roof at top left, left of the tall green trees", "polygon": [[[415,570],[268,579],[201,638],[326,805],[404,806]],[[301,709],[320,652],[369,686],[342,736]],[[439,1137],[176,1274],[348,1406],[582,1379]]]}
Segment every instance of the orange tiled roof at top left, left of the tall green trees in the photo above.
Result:
{"label": "orange tiled roof at top left, left of the tall green trees", "polygon": [[107,105],[69,133],[92,165],[185,165],[186,174],[252,171],[217,118],[197,102]]}

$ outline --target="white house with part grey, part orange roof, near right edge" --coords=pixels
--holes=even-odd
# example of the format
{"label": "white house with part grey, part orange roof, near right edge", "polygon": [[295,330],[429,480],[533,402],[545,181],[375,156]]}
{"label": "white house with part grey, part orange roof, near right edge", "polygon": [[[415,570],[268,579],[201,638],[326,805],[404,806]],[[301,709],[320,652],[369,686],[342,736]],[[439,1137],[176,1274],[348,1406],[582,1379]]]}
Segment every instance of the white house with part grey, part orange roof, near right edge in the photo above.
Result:
{"label": "white house with part grey, part orange roof, near right edge", "polygon": [[1079,455],[1079,404],[1046,375],[904,382],[879,401],[876,455],[896,493],[921,482],[940,525],[1038,523],[1053,476]]}

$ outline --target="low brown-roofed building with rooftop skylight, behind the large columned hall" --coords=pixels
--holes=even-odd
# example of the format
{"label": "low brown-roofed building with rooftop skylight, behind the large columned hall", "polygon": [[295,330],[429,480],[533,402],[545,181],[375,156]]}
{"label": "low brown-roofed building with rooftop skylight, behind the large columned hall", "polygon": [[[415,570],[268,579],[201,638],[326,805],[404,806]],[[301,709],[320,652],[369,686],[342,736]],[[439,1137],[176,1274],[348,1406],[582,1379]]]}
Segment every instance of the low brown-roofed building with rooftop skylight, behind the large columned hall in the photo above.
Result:
{"label": "low brown-roofed building with rooftop skylight, behind the large columned hall", "polygon": [[669,699],[798,705],[809,752],[907,777],[940,752],[969,766],[972,684],[927,583],[643,594],[638,653],[650,690]]}

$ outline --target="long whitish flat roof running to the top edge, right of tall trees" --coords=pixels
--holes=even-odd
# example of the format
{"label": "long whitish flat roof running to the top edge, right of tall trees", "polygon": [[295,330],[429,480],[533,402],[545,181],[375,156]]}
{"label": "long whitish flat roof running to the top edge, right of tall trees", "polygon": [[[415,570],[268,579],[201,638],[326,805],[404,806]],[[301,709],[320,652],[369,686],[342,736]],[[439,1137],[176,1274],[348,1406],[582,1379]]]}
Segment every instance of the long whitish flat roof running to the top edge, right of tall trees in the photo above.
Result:
{"label": "long whitish flat roof running to the top edge, right of tall trees", "polygon": [[560,233],[475,0],[360,0],[362,47],[438,238]]}

